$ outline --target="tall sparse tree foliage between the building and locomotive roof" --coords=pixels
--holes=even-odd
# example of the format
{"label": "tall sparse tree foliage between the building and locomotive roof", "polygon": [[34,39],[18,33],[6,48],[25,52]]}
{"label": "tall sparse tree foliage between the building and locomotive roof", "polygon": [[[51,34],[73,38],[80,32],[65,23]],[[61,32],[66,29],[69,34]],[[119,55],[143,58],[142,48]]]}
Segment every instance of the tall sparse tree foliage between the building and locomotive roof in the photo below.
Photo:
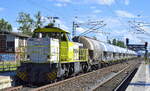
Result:
{"label": "tall sparse tree foliage between the building and locomotive roof", "polygon": [[17,22],[20,24],[18,30],[27,35],[32,35],[32,30],[42,27],[44,23],[44,21],[42,21],[41,12],[37,12],[34,17],[31,17],[28,13],[20,12]]}

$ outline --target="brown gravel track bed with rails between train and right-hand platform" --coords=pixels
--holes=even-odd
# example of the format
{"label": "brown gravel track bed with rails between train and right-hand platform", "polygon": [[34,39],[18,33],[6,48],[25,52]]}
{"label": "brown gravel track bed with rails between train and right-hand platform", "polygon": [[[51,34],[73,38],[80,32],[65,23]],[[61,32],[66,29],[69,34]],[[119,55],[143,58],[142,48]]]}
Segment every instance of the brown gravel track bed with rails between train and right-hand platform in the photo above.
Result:
{"label": "brown gravel track bed with rails between train and right-hand platform", "polygon": [[6,91],[112,91],[138,65],[139,61],[132,60],[38,88],[20,86],[20,89]]}

